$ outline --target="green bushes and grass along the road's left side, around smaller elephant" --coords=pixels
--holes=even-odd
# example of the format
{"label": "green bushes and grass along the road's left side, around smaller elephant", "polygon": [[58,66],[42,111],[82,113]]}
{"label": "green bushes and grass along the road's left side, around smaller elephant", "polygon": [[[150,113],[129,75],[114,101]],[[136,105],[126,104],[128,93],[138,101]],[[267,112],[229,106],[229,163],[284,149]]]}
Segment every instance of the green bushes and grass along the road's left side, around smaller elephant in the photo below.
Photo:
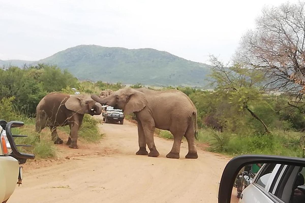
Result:
{"label": "green bushes and grass along the road's left side, around smaller elephant", "polygon": [[[82,94],[99,94],[104,89],[118,90],[124,87],[121,83],[78,81],[69,72],[45,64],[24,69],[4,67],[0,69],[0,78],[0,119],[24,122],[24,127],[14,130],[15,133],[28,137],[17,138],[16,143],[32,145],[30,148],[20,150],[35,153],[39,158],[55,157],[57,151],[56,145],[51,141],[48,128],[40,134],[35,132],[36,106],[46,94],[50,92],[74,94],[72,88],[76,88]],[[100,121],[85,114],[79,138],[84,142],[98,142],[102,138],[98,130],[99,123]],[[58,131],[69,134],[68,127],[58,128]]]}

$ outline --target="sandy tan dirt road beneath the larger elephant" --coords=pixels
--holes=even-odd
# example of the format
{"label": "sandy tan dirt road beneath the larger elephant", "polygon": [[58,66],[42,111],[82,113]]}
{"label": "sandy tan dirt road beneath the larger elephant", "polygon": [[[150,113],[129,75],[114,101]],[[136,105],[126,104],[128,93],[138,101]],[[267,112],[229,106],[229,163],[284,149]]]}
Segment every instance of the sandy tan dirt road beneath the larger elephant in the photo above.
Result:
{"label": "sandy tan dirt road beneath the larger elephant", "polygon": [[198,150],[198,159],[185,159],[184,140],[181,158],[167,159],[172,141],[158,137],[160,157],[138,156],[135,124],[102,124],[100,129],[106,136],[94,148],[95,155],[27,171],[8,203],[217,202],[228,158]]}

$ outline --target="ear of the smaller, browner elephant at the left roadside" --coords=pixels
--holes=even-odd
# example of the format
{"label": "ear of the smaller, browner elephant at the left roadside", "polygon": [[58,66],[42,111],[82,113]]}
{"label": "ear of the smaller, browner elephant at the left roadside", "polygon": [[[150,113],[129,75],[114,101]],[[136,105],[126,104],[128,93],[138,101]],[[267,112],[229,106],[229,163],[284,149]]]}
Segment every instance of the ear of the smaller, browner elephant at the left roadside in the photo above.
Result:
{"label": "ear of the smaller, browner elephant at the left roadside", "polygon": [[66,101],[65,106],[71,111],[75,111],[78,114],[85,114],[85,95],[70,95],[70,98]]}

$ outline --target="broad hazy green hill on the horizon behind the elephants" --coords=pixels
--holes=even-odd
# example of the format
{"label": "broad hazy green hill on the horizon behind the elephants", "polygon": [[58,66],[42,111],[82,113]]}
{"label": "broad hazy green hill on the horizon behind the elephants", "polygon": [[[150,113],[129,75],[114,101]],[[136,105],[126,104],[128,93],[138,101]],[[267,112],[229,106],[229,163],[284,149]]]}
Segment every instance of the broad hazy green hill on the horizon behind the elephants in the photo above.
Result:
{"label": "broad hazy green hill on the horizon behind the elephants", "polygon": [[29,63],[56,64],[81,80],[125,84],[141,82],[148,85],[203,86],[210,68],[209,65],[188,61],[165,51],[96,45],[71,47]]}

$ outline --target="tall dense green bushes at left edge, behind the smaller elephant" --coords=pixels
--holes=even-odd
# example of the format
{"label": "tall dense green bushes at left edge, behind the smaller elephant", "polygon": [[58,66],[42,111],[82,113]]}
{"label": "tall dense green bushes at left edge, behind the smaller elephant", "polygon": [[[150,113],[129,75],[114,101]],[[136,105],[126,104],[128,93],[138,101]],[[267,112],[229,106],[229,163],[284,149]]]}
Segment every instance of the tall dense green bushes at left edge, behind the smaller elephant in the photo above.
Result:
{"label": "tall dense green bushes at left edge, behind the smaller elephant", "polygon": [[39,101],[49,92],[77,86],[77,79],[56,66],[40,64],[20,69],[0,69],[0,99],[15,96],[13,106],[19,113],[34,116]]}

